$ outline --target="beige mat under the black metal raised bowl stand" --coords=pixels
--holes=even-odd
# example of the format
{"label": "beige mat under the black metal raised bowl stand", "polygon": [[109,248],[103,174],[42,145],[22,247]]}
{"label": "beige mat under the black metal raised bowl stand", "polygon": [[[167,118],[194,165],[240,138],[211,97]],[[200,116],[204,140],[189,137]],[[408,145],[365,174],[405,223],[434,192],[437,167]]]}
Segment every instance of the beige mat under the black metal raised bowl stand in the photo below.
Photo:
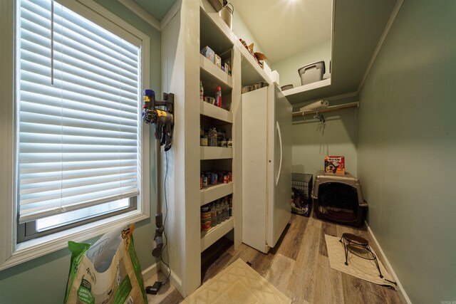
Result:
{"label": "beige mat under the black metal raised bowl stand", "polygon": [[[348,266],[345,265],[345,249],[343,248],[343,243],[339,241],[340,239],[341,238],[337,236],[325,235],[326,248],[328,248],[328,258],[331,268],[351,276],[356,276],[356,278],[361,278],[378,285],[388,285],[396,289],[394,283],[388,282],[388,280],[394,281],[394,279],[391,278],[388,271],[386,271],[385,267],[378,259],[380,271],[384,278],[380,278],[374,261],[365,260],[355,256],[353,253],[348,252]],[[374,251],[373,253],[377,256]]]}

